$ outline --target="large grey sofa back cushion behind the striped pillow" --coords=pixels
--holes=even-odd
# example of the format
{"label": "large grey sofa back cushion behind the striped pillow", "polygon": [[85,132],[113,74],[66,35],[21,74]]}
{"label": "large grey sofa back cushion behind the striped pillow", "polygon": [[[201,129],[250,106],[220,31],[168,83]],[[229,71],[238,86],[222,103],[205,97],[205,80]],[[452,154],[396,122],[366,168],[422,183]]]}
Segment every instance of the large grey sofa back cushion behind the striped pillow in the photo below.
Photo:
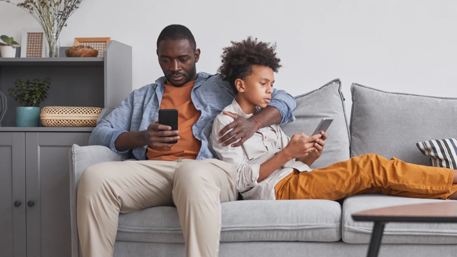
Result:
{"label": "large grey sofa back cushion behind the striped pillow", "polygon": [[416,143],[457,135],[457,98],[392,93],[352,84],[351,157],[378,154],[429,165]]}

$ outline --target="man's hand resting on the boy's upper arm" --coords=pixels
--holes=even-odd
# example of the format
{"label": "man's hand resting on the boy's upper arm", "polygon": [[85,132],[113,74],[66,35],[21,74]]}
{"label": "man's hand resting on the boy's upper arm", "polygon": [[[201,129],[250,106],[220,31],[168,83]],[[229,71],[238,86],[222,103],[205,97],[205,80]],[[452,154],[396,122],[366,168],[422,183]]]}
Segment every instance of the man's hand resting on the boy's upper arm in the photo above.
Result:
{"label": "man's hand resting on the boy's upper arm", "polygon": [[238,139],[241,140],[232,144],[232,147],[243,145],[244,141],[250,139],[254,135],[255,131],[257,131],[257,122],[254,118],[244,118],[238,114],[226,111],[223,111],[222,113],[234,119],[234,122],[225,126],[219,133],[219,136],[222,136],[228,130],[232,129],[230,132],[219,139],[219,143],[223,143],[223,146],[232,144]]}

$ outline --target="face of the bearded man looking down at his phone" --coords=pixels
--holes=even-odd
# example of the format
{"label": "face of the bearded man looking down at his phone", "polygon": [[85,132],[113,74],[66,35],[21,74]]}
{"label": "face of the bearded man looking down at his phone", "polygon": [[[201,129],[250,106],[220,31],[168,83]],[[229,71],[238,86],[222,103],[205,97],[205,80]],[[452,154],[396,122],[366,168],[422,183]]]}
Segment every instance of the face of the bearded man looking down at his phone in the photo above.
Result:
{"label": "face of the bearded man looking down at his phone", "polygon": [[195,63],[200,58],[200,49],[195,52],[189,40],[164,40],[157,49],[160,68],[173,86],[183,86],[197,79]]}

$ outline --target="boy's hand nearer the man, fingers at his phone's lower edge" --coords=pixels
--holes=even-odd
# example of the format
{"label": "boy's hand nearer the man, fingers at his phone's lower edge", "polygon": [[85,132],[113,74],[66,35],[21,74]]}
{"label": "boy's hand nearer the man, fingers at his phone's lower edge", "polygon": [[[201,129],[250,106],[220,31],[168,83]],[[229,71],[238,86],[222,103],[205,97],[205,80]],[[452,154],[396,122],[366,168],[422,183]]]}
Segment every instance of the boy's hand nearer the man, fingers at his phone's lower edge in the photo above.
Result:
{"label": "boy's hand nearer the man, fingers at his phone's lower edge", "polygon": [[321,136],[321,134],[314,136],[307,136],[304,133],[294,134],[283,151],[287,153],[290,160],[306,157],[309,152],[316,150],[315,140]]}

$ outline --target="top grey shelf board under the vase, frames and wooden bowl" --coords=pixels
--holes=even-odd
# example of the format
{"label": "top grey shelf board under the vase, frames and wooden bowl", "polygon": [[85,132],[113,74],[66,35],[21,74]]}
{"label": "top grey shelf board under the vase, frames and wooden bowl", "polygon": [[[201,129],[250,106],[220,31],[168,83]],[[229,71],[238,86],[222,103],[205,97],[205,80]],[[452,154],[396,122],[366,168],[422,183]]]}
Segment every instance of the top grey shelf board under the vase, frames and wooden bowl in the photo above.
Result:
{"label": "top grey shelf board under the vase, frames and wooden bowl", "polygon": [[0,67],[103,67],[104,57],[3,58]]}

